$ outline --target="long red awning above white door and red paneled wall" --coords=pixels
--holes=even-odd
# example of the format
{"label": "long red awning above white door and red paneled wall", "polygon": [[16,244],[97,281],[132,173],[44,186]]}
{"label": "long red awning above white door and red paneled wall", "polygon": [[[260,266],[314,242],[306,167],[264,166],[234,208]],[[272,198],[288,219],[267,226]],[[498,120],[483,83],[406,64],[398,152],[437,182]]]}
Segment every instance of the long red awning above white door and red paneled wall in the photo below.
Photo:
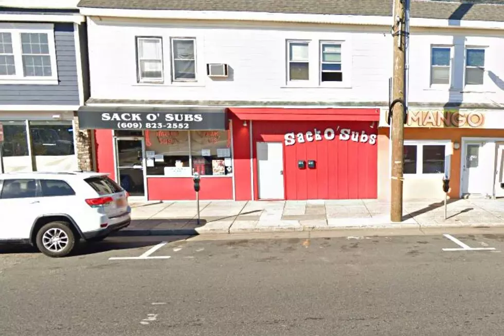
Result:
{"label": "long red awning above white door and red paneled wall", "polygon": [[228,108],[228,111],[241,120],[380,120],[380,109]]}

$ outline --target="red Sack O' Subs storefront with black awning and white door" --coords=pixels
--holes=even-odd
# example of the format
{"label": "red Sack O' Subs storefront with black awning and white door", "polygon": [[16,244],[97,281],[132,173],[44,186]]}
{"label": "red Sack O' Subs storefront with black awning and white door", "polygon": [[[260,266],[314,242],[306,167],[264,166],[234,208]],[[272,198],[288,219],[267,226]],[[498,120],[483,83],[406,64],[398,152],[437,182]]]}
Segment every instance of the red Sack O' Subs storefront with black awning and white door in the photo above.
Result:
{"label": "red Sack O' Subs storefront with black awning and white door", "polygon": [[132,196],[193,200],[377,197],[379,109],[86,106],[97,170]]}

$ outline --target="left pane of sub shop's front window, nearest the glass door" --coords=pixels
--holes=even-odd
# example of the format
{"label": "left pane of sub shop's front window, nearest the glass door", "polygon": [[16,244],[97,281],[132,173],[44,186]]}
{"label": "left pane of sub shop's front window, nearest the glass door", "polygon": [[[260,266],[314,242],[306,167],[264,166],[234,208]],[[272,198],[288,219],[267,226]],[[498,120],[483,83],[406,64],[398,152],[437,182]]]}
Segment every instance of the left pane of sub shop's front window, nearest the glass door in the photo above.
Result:
{"label": "left pane of sub shop's front window, nearest the glass door", "polygon": [[145,142],[147,175],[191,175],[188,131],[146,131]]}

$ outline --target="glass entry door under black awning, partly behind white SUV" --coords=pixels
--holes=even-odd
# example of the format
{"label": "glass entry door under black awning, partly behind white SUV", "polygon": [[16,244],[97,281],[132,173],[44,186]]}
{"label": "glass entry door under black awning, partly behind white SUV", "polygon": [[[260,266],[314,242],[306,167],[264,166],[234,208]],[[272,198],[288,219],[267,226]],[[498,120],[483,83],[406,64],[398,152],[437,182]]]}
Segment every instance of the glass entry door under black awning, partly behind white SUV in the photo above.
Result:
{"label": "glass entry door under black awning, partly behind white SUV", "polygon": [[117,182],[131,196],[145,197],[143,139],[116,138]]}

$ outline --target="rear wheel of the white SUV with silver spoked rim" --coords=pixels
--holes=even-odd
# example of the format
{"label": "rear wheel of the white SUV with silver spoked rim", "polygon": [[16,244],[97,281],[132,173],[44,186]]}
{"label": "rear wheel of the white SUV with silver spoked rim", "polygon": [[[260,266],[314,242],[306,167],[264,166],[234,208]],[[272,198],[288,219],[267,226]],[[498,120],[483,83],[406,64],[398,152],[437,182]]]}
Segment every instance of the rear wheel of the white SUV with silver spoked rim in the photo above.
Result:
{"label": "rear wheel of the white SUV with silver spoked rim", "polygon": [[49,257],[64,257],[74,250],[74,232],[65,222],[50,222],[37,233],[37,247]]}

